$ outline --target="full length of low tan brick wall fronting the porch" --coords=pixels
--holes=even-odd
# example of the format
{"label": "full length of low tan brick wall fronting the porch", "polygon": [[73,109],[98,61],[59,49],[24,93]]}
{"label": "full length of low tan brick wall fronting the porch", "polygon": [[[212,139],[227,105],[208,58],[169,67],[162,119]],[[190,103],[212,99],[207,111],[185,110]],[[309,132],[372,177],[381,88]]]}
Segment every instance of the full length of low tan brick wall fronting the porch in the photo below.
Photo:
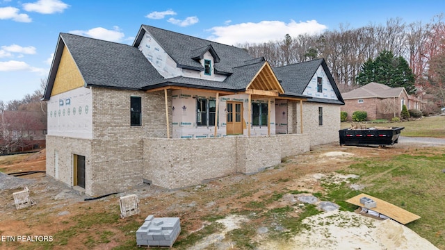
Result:
{"label": "full length of low tan brick wall fronting the porch", "polygon": [[253,174],[309,151],[306,134],[144,140],[143,178],[167,189],[198,185],[234,173]]}

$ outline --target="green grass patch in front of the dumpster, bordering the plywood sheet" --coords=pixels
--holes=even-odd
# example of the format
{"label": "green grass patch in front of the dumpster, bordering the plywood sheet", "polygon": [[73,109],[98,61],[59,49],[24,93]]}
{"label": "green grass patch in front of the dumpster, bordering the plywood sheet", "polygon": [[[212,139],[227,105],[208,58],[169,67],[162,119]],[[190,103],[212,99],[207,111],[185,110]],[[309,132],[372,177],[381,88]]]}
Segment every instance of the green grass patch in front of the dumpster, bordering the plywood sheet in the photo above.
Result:
{"label": "green grass patch in front of the dumpster, bordering the plywood sheet", "polygon": [[[419,215],[406,226],[439,249],[445,249],[445,151],[444,147],[412,149],[391,158],[360,159],[343,174],[357,174],[362,192]],[[348,187],[328,192],[331,199],[354,197]],[[346,207],[348,209],[349,207]]]}

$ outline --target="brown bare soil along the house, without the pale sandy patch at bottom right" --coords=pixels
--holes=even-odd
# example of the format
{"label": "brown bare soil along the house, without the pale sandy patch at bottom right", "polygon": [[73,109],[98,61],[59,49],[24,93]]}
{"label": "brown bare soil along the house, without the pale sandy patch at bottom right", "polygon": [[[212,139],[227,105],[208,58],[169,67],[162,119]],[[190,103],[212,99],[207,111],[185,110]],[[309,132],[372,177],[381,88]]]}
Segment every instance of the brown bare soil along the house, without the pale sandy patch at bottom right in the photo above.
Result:
{"label": "brown bare soil along the house, without the pale sandy patch at bottom right", "polygon": [[[398,144],[385,149],[339,147],[337,144],[326,144],[302,155],[287,158],[281,165],[252,176],[241,174],[227,176],[177,191],[167,191],[141,184],[127,192],[94,201],[84,201],[86,197],[83,194],[79,194],[45,174],[21,176],[22,179],[33,180],[33,183],[27,186],[36,205],[24,210],[16,210],[13,192],[22,190],[22,187],[0,189],[1,237],[48,235],[53,237],[56,243],[48,245],[38,242],[8,242],[3,239],[0,240],[0,248],[113,249],[117,246],[131,246],[129,242],[135,238],[135,228],[137,229],[142,224],[147,215],[180,217],[183,233],[178,240],[181,240],[192,232],[200,231],[209,223],[209,218],[228,217],[237,211],[249,209],[255,213],[257,211],[254,207],[255,201],[259,202],[265,197],[280,194],[283,190],[324,192],[317,176],[332,175],[339,169],[345,169],[355,162],[355,158],[375,156],[390,158],[398,153],[409,153],[410,150],[412,149],[407,144]],[[0,169],[6,174],[45,169],[44,151],[23,156],[19,160],[19,163],[8,162],[0,165]],[[126,194],[138,195],[141,213],[120,219],[119,197]],[[288,202],[285,199],[274,200],[266,203],[266,208],[269,210],[282,208]],[[298,209],[293,211],[293,215],[298,217]],[[245,218],[234,219],[234,221],[247,223],[243,219]],[[265,222],[250,219],[248,223],[255,228],[261,228]],[[269,225],[269,228],[272,225]],[[227,233],[227,228],[230,226],[226,225],[224,233]],[[225,242],[224,233],[213,237],[217,243],[205,243],[210,239],[204,238],[191,248],[238,249],[234,247],[233,242]],[[262,242],[264,240],[262,233],[257,233],[253,239],[261,242],[260,249],[268,249],[268,246],[277,247],[277,244],[273,242]],[[321,246],[323,247],[327,246]],[[288,246],[286,249],[292,248]],[[308,246],[308,249],[317,248]]]}

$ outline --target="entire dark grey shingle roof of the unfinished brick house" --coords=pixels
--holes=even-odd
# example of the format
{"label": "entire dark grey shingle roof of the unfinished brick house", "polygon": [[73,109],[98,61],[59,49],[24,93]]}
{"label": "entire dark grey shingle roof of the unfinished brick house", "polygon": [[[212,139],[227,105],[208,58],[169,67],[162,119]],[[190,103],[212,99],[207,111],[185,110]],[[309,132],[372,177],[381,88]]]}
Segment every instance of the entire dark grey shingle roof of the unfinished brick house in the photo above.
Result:
{"label": "entire dark grey shingle roof of the unfinished brick house", "polygon": [[[165,52],[176,61],[178,67],[186,69],[204,70],[198,60],[203,53],[210,51],[216,57],[213,63],[215,72],[226,74],[227,78],[223,82],[185,76],[163,78],[138,49],[144,35],[151,35],[163,47]],[[133,46],[60,33],[44,99],[49,99],[51,94],[60,56],[65,46],[70,51],[77,67],[79,67],[87,86],[131,90],[149,90],[167,85],[177,85],[236,92],[245,89],[255,74],[259,72],[259,69],[266,63],[264,58],[252,58],[245,49],[147,25],[141,26]],[[281,81],[285,91],[284,96],[304,97],[302,92],[320,65],[323,65],[327,72],[329,71],[324,60],[318,59],[278,67],[273,69],[273,72]],[[332,76],[330,76],[330,81],[334,83]],[[333,87],[334,90],[337,90],[335,84]],[[339,103],[343,103],[338,90],[337,95],[339,96]],[[315,99],[313,100],[315,101]],[[323,102],[323,100],[320,101]]]}

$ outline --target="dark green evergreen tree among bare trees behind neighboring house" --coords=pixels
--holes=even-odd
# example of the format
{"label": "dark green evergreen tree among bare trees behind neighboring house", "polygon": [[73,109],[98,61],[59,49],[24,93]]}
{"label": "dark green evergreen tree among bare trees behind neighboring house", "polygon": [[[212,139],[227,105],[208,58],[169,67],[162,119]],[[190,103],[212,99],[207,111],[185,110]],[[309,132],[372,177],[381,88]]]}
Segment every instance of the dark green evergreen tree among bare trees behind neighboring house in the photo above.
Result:
{"label": "dark green evergreen tree among bare trees behind neighboring house", "polygon": [[367,60],[355,81],[358,85],[375,82],[391,88],[404,87],[408,94],[414,94],[416,91],[414,74],[405,58],[396,57],[387,50],[380,52],[375,60]]}

